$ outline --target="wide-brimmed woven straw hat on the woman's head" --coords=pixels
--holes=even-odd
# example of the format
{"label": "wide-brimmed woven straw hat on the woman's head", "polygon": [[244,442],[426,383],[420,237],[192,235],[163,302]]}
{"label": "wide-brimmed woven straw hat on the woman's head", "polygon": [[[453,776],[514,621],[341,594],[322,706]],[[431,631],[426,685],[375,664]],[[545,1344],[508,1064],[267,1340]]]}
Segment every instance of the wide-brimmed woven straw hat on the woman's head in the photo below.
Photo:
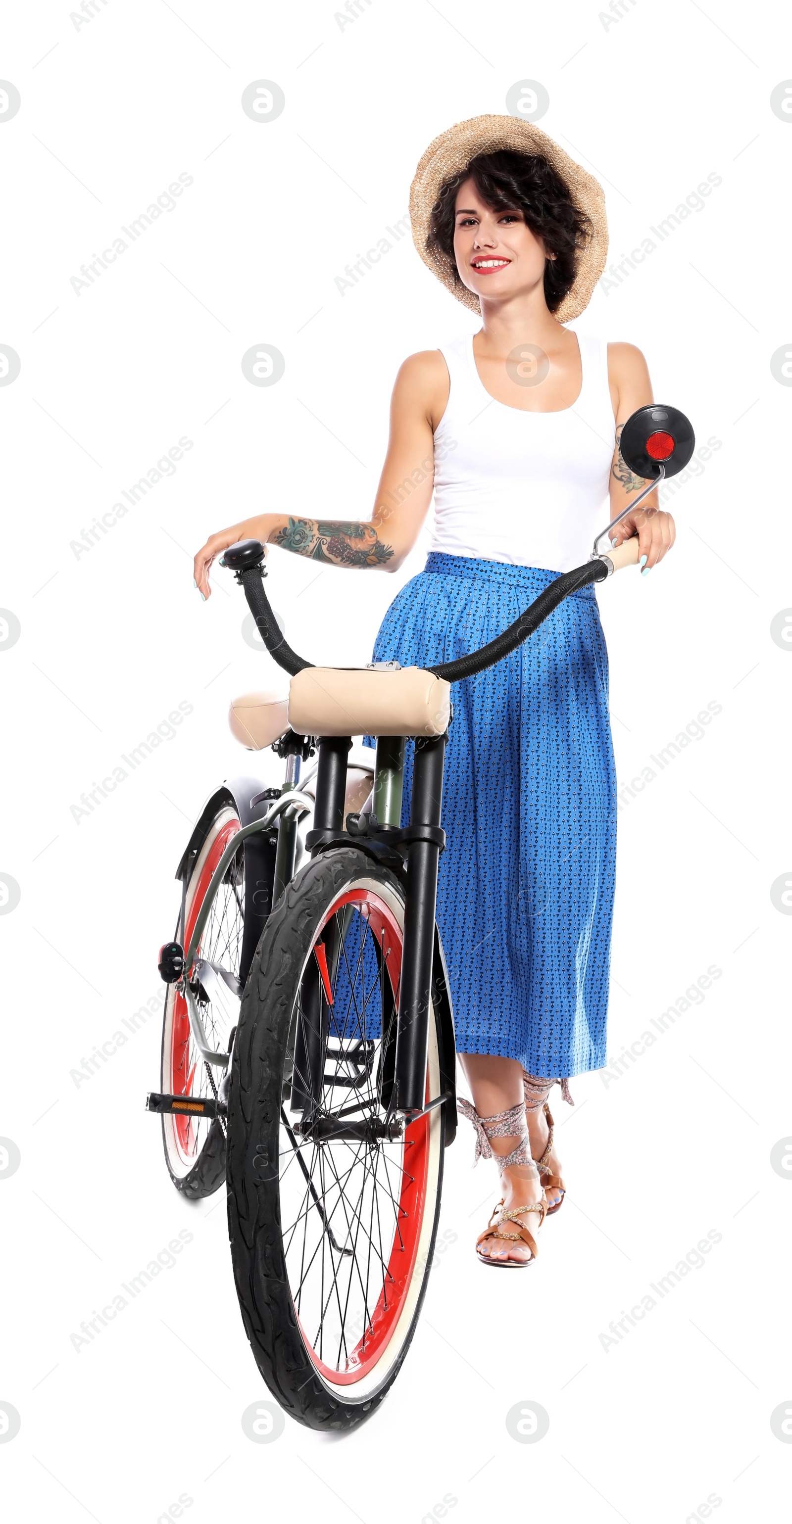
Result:
{"label": "wide-brimmed woven straw hat on the woman's head", "polygon": [[493,154],[501,148],[508,148],[519,154],[543,154],[552,165],[565,184],[575,206],[586,212],[592,223],[592,236],[577,256],[577,276],[563,297],[554,317],[560,323],[568,323],[578,317],[588,306],[594,287],[597,285],[607,259],[607,218],[604,210],[604,190],[601,184],[589,175],[569,154],[559,148],[540,126],[533,122],[520,122],[514,116],[473,116],[467,122],[456,122],[447,133],[441,133],[429,145],[423,155],[415,180],[410,186],[410,221],[412,241],[429,270],[443,285],[468,306],[472,312],[481,312],[481,303],[473,291],[459,287],[455,273],[456,265],[439,248],[427,248],[427,236],[432,219],[432,207],[439,195],[439,187],[459,171],[465,169],[476,154]]}

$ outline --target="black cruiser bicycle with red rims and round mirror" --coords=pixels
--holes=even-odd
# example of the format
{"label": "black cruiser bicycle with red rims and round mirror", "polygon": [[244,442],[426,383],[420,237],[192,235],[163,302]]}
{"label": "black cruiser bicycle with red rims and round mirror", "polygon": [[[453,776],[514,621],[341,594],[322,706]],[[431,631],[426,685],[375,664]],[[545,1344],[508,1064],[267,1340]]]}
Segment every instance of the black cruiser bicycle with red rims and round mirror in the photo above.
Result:
{"label": "black cruiser bicycle with red rims and round mirror", "polygon": [[[514,651],[568,594],[638,561],[638,539],[603,553],[600,541],[684,469],[694,436],[682,413],[653,404],[626,422],[620,447],[649,486],[597,535],[589,559],[481,651],[427,671],[311,666],[269,605],[264,547],[241,541],[221,558],[291,678],[270,725],[284,724],[270,739],[287,777],[276,799],[247,785],[212,796],[179,864],[182,939],[160,951],[163,1077],[179,1088],[150,1096],[148,1108],[182,1140],[182,1164],[183,1138],[201,1138],[182,1173],[166,1141],[179,1189],[204,1195],[226,1167],[253,1358],[281,1407],[310,1428],[349,1430],[383,1401],[433,1257],[443,1155],[456,1134],[452,992],[435,924],[450,686]],[[262,722],[258,736],[269,735]],[[377,739],[374,779],[363,808],[346,811],[356,735]],[[407,738],[415,765],[401,828]],[[314,747],[311,799],[298,783]],[[295,872],[311,809],[310,861]]]}

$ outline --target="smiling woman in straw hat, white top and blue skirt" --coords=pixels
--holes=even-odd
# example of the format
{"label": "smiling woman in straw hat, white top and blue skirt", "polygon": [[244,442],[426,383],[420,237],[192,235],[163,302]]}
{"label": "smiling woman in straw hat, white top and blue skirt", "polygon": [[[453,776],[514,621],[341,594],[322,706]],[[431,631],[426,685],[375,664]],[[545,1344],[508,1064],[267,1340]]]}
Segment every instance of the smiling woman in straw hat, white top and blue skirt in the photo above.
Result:
{"label": "smiling woman in straw hat, white top and blue skirt", "polygon": [[[418,253],[481,329],[401,366],[371,520],[244,520],[208,539],[195,584],[209,597],[212,561],[243,538],[395,572],[433,492],[426,568],[375,646],[377,660],[429,666],[491,640],[586,559],[646,486],[618,437],[653,398],[638,349],[563,326],[606,262],[604,197],[539,128],[484,116],[444,133],[418,165],[410,216]],[[674,539],[653,497],[613,544],[633,535],[647,576]],[[549,1090],[571,1100],[568,1077],[606,1064],[615,774],[594,587],[452,701],[438,924],[475,1102],[461,1109],[502,1186],[476,1253],[519,1268],[565,1195]]]}

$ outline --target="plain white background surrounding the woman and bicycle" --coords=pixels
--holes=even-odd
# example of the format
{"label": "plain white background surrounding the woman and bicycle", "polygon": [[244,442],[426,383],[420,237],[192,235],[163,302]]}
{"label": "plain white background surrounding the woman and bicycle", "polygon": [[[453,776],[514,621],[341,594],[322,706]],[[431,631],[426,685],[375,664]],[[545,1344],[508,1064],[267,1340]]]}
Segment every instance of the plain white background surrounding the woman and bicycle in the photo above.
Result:
{"label": "plain white background surrounding the woman and bicycle", "polygon": [[[792,1132],[789,922],[769,893],[792,867],[790,657],[769,632],[792,605],[792,392],[769,366],[792,338],[792,119],[769,104],[792,76],[781,12],[360,0],[342,27],[314,0],[96,8],[76,27],[67,3],[38,0],[3,23],[2,73],[21,94],[0,123],[0,343],[21,360],[0,389],[0,605],[21,625],[0,649],[0,870],[21,892],[0,916],[0,1132],[21,1151],[0,1177],[0,1399],[21,1414],[0,1445],[9,1516],[154,1524],[180,1494],[197,1524],[275,1509],[420,1524],[446,1495],[455,1521],[682,1524],[708,1516],[694,1510],[711,1494],[725,1524],[786,1516],[792,1449],[769,1426],[792,1407],[792,1186],[769,1163]],[[255,79],[284,90],[276,120],[243,113]],[[673,497],[673,556],[600,590],[623,783],[722,706],[620,814],[610,1055],[710,965],[722,974],[621,1077],[578,1079],[574,1111],[555,1102],[569,1196],[537,1266],[496,1280],[475,1263],[496,1181],[491,1166],[472,1175],[465,1129],[446,1160],[449,1247],[383,1408],[346,1439],[287,1420],[253,1445],[241,1413],[269,1394],[223,1196],[177,1196],[143,1113],[159,1018],[90,1081],[70,1071],[159,1000],[172,873],[206,794],[233,773],[279,773],[226,727],[229,696],[276,669],[244,643],[227,575],[200,602],[191,556],[266,507],[368,515],[400,361],[478,325],[409,235],[343,296],[334,277],[406,213],[430,139],[504,113],[520,79],[546,87],[540,125],[601,180],[617,262],[722,177],[574,325],[638,344],[655,396],[720,442]],[[76,294],[79,267],[182,172],[194,183],[175,209]],[[285,358],[273,387],[241,372],[261,343]],[[70,543],[182,436],[192,450],[177,471],[75,556]],[[269,590],[308,657],[366,661],[421,564],[420,546],[395,576],[317,576],[273,553]],[[177,735],[78,823],[81,792],[179,701],[192,713]],[[177,1265],[76,1352],[81,1320],[182,1228],[194,1237]],[[606,1350],[600,1334],[710,1230],[722,1239],[705,1265]],[[549,1414],[534,1446],[505,1428],[523,1401]]]}

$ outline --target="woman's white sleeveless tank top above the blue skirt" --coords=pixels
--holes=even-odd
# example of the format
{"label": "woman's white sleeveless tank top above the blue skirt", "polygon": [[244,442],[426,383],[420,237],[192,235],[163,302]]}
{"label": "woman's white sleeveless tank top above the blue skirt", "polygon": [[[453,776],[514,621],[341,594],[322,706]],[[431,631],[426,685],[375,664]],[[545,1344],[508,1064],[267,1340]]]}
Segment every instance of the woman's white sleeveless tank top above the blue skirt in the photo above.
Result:
{"label": "woman's white sleeveless tank top above the blue skirt", "polygon": [[607,343],[577,334],[583,384],[572,407],[525,413],[490,396],[473,335],[441,344],[450,376],[435,431],[430,550],[571,572],[609,520],[615,419]]}

